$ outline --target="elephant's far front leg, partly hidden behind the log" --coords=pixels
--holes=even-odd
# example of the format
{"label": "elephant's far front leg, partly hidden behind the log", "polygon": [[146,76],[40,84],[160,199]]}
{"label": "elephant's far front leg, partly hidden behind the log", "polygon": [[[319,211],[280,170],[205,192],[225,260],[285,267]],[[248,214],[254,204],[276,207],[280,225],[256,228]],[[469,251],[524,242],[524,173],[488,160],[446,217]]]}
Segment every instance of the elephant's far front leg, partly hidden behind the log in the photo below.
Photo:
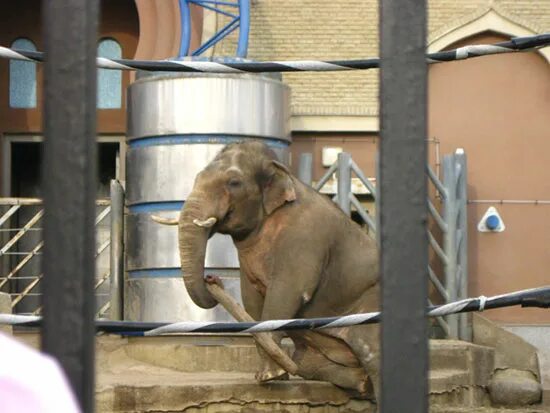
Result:
{"label": "elephant's far front leg, partly hidden behind the log", "polygon": [[[264,306],[264,297],[260,294],[252,283],[246,278],[241,278],[241,295],[244,308],[254,320],[260,320]],[[269,334],[269,333],[265,333]],[[282,334],[280,336],[270,334],[277,345],[281,344]],[[286,380],[288,373],[279,364],[266,353],[266,351],[256,342],[256,349],[260,355],[260,368],[255,374],[255,378],[260,383],[271,380]],[[284,350],[283,350],[284,351]]]}

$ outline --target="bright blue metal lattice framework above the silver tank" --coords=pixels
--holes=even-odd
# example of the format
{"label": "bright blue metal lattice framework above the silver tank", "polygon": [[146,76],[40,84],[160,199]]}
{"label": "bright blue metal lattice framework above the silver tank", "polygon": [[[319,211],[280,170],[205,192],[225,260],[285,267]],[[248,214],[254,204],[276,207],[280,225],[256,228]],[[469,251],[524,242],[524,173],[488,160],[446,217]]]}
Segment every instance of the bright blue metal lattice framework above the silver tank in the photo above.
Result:
{"label": "bright blue metal lattice framework above the silver tank", "polygon": [[[206,50],[220,42],[237,28],[239,29],[239,40],[237,43],[237,57],[246,57],[248,53],[248,34],[250,32],[250,0],[179,0],[181,16],[181,43],[179,57],[189,55],[191,44],[191,11],[189,4],[193,3],[205,9],[215,11],[231,20],[224,27],[218,30],[210,39],[201,44],[191,56],[199,56]],[[220,8],[223,7],[223,9]],[[231,10],[231,11],[228,11]]]}

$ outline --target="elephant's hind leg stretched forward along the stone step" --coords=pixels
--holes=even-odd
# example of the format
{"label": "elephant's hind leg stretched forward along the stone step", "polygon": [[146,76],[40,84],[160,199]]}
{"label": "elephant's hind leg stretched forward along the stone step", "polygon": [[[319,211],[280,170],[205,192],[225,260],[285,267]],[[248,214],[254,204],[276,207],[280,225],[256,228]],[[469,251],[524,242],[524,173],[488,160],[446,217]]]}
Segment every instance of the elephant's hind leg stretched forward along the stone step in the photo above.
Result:
{"label": "elephant's hind leg stretched forward along the stone step", "polygon": [[328,381],[338,387],[368,396],[368,377],[361,367],[346,367],[327,359],[317,349],[297,344],[293,355],[298,375],[308,380]]}

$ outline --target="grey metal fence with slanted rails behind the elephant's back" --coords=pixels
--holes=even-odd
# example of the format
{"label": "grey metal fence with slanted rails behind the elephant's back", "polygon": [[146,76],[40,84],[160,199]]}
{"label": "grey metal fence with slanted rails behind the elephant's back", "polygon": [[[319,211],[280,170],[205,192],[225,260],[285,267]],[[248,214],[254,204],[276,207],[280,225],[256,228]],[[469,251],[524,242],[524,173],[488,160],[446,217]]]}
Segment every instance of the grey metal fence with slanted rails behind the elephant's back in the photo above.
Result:
{"label": "grey metal fence with slanted rails behind the elephant's back", "polygon": [[[467,182],[466,154],[458,149],[454,154],[443,157],[443,177],[440,179],[430,165],[427,165],[427,176],[434,187],[435,197],[428,197],[428,211],[434,227],[427,227],[427,235],[433,259],[428,264],[428,277],[434,293],[443,304],[448,304],[468,297],[468,233],[467,233]],[[366,187],[378,204],[379,197],[374,184],[346,152],[338,154],[338,160],[317,181],[313,188],[317,191],[336,177],[336,194],[332,200],[342,211],[350,216],[355,208],[369,231],[377,234],[377,216],[365,209],[352,191],[352,176],[355,176]],[[298,165],[298,178],[312,185],[312,156],[301,154]],[[435,201],[439,199],[441,207]],[[378,207],[376,210],[379,210]],[[442,211],[442,212],[440,212]],[[434,235],[440,233],[441,236]],[[438,240],[439,239],[439,240]],[[437,268],[442,267],[442,275]],[[428,305],[432,306],[431,300]],[[436,318],[446,337],[471,340],[471,326],[467,314],[449,314]]]}

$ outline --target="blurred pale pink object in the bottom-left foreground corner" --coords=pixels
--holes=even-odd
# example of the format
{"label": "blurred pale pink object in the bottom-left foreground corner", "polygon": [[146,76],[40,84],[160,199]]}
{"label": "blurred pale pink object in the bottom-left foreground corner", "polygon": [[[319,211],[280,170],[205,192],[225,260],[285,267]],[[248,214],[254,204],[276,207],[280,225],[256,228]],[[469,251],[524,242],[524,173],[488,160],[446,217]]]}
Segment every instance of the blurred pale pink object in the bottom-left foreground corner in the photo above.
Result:
{"label": "blurred pale pink object in the bottom-left foreground corner", "polygon": [[77,413],[58,363],[0,333],[0,412]]}

